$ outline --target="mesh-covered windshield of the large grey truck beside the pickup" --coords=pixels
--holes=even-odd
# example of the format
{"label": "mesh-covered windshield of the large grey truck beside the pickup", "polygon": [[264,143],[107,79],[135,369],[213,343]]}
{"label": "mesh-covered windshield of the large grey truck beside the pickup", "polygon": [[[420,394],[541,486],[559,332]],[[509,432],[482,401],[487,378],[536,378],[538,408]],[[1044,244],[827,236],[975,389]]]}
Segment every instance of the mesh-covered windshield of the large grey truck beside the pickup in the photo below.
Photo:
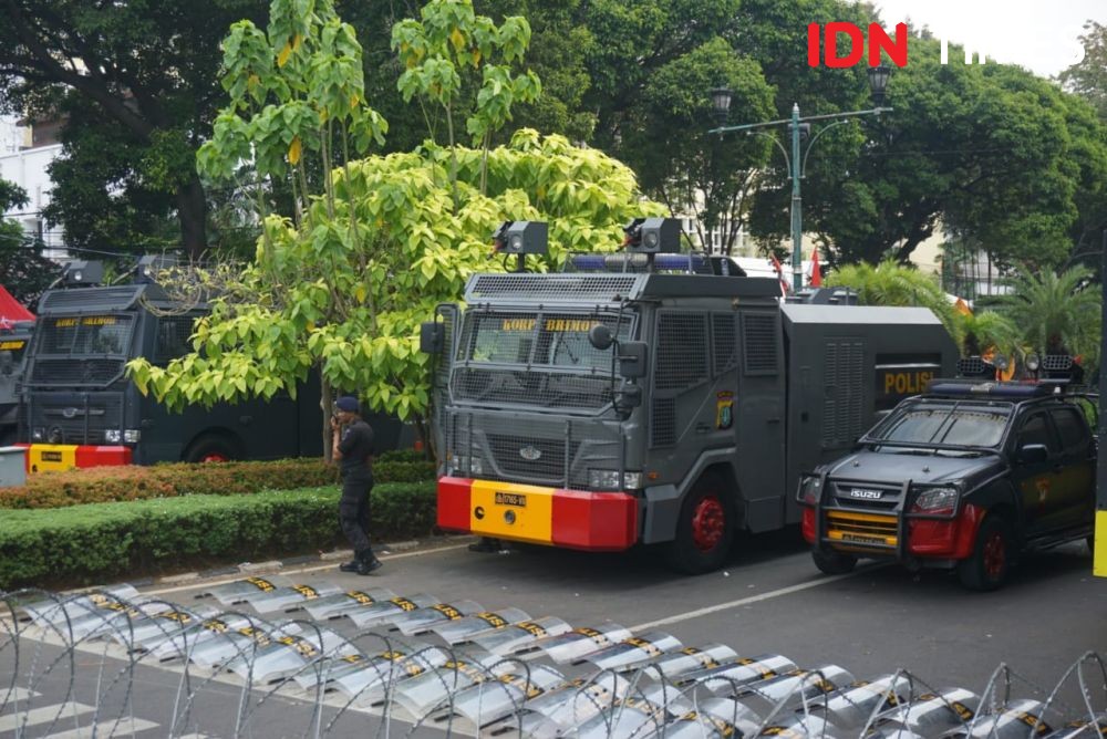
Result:
{"label": "mesh-covered windshield of the large grey truck beside the pickup", "polygon": [[[611,402],[613,350],[597,350],[589,330],[633,334],[623,314],[473,310],[465,316],[452,377],[455,399],[594,410]],[[618,370],[618,367],[617,367]]]}

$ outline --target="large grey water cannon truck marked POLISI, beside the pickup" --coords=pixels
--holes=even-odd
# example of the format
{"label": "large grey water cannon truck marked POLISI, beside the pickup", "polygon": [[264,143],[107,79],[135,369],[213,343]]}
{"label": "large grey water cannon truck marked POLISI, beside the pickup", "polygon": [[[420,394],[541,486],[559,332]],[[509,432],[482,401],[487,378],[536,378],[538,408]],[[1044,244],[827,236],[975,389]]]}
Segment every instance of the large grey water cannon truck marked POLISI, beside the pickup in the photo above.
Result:
{"label": "large grey water cannon truck marked POLISI, beside the pickup", "polygon": [[849,450],[882,410],[956,362],[921,308],[847,291],[784,299],[721,257],[681,253],[676,219],[635,219],[625,249],[523,270],[546,225],[505,223],[509,273],[439,305],[437,522],[590,551],[660,544],[687,573],[739,531],[800,520],[801,471]]}

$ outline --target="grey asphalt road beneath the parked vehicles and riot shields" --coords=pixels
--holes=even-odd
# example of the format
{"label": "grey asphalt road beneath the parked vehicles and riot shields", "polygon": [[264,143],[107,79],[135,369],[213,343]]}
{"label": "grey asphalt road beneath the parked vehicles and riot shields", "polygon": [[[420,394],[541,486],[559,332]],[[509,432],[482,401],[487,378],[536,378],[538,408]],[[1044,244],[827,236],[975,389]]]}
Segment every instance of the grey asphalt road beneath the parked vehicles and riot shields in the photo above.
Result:
{"label": "grey asphalt road beneath the parked vehicles and riot shields", "polygon": [[[726,569],[700,577],[669,573],[650,551],[596,555],[525,547],[507,554],[476,554],[466,551],[466,541],[447,540],[435,549],[385,558],[386,566],[370,577],[341,573],[334,564],[284,574],[309,585],[386,586],[397,593],[431,593],[446,602],[475,600],[490,610],[516,606],[531,616],[560,616],[573,626],[610,620],[639,633],[666,631],[685,645],[722,642],[742,655],[779,653],[803,667],[838,664],[858,678],[904,667],[934,687],[981,693],[996,666],[1006,663],[1016,676],[1012,689],[1016,697],[1031,697],[1041,689],[1038,697],[1044,698],[1080,655],[1088,650],[1107,655],[1107,580],[1090,575],[1090,558],[1078,545],[1035,555],[1006,589],[979,594],[964,591],[944,573],[912,575],[893,566],[870,566],[839,577],[819,575],[795,531],[744,541]],[[146,592],[189,604],[210,586],[205,582]],[[352,635],[355,628],[345,622],[329,625]],[[41,652],[40,662],[48,654]],[[10,656],[11,650],[0,648],[0,674],[11,674]],[[24,650],[24,668],[25,656]],[[68,677],[59,670],[58,679],[38,685],[42,695],[34,705],[51,711],[37,715],[38,731],[30,727],[23,736],[87,736],[63,732],[90,724],[96,680],[104,685],[99,670],[91,668],[102,659],[82,655],[79,662],[90,669],[69,696],[76,704],[76,718],[46,731],[51,711],[66,699]],[[133,712],[138,722],[117,727],[116,736],[130,736],[132,729],[139,736],[166,736],[179,674],[142,667],[136,676],[133,691],[115,689],[101,705],[117,708],[131,699],[134,710],[124,714]],[[1101,683],[1099,675],[1093,698],[1097,708],[1107,709],[1107,687]],[[215,688],[206,690],[205,702],[195,707],[190,718],[196,729],[234,726],[240,690],[230,685]],[[3,689],[0,683],[0,693]],[[1075,680],[1062,695],[1070,706],[1078,704]],[[11,712],[10,706],[6,712]],[[113,716],[103,710],[102,715]],[[333,715],[333,708],[325,708],[323,722]],[[280,695],[268,698],[251,719],[252,736],[303,736],[309,727],[310,707]],[[13,728],[0,717],[0,739],[14,736]],[[348,714],[332,736],[364,736],[370,728],[380,729],[380,720]],[[403,736],[406,727],[393,731]],[[102,728],[100,736],[104,733]],[[207,736],[225,732],[217,729]]]}

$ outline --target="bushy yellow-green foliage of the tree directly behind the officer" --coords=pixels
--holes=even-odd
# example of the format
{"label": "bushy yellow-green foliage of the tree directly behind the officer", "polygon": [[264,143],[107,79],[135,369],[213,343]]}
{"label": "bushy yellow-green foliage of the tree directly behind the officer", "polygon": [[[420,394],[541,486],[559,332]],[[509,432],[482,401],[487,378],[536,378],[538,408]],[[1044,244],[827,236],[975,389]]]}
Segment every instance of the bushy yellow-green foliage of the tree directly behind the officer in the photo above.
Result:
{"label": "bushy yellow-green foliage of the tree directly behind the officer", "polygon": [[[447,174],[455,158],[456,208]],[[417,418],[430,403],[418,324],[456,300],[469,274],[503,269],[489,260],[496,226],[548,221],[550,257],[532,267],[550,269],[570,250],[618,249],[627,220],[664,210],[641,199],[627,167],[561,136],[525,129],[487,153],[482,194],[485,158],[428,144],[335,169],[333,204],[315,199],[299,227],[267,219],[268,239],[239,292],[260,300],[216,300],[196,327],[203,354],[166,368],[138,360],[132,376],[180,407],[293,391],[318,367],[328,387],[356,388],[374,409]]]}

